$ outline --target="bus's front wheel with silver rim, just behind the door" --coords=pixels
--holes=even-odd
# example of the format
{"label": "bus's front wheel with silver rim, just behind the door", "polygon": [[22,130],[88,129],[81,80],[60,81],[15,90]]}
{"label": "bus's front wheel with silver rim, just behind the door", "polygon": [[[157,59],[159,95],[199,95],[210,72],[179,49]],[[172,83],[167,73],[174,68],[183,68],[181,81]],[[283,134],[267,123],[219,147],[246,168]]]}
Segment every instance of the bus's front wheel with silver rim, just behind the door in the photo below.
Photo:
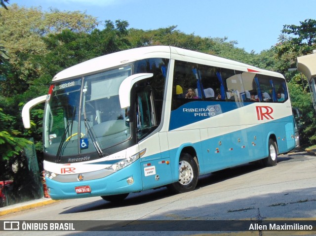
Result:
{"label": "bus's front wheel with silver rim, just behind the door", "polygon": [[190,192],[196,188],[197,180],[197,163],[190,154],[184,153],[179,160],[178,181],[168,185],[168,189],[176,194]]}

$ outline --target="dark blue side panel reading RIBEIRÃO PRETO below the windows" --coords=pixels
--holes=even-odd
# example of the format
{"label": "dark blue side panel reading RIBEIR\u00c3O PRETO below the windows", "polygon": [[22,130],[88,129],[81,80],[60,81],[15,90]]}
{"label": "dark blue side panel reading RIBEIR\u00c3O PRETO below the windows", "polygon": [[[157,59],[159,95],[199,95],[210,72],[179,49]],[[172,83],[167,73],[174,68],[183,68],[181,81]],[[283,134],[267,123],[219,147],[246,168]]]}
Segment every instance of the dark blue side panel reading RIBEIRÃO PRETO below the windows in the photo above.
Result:
{"label": "dark blue side panel reading RIBEIR\u00c3O PRETO below the windows", "polygon": [[169,131],[250,104],[253,102],[191,101],[171,111]]}

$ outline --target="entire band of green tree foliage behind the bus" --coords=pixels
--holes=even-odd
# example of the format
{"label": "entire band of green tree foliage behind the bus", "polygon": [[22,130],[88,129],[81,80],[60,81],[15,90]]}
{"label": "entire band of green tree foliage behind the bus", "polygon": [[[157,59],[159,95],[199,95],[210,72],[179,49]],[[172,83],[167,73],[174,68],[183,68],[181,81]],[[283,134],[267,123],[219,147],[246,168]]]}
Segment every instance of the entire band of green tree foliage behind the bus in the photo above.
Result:
{"label": "entire band of green tree foliage behind the bus", "polygon": [[[8,1],[1,0],[1,3]],[[0,126],[0,150],[8,147],[1,150],[2,159],[16,155],[26,143],[23,138],[35,137],[40,147],[43,107],[32,110],[33,125],[28,131],[22,127],[20,110],[27,101],[47,93],[56,73],[97,56],[150,45],[181,47],[285,74],[293,105],[308,117],[304,142],[316,143],[315,115],[306,80],[287,71],[296,66],[297,56],[316,49],[315,20],[307,19],[299,26],[284,25],[279,42],[255,54],[238,48],[237,41],[229,41],[227,37],[185,34],[175,25],[144,31],[128,29],[129,24],[124,20],[101,23],[79,11],[51,9],[47,12],[40,7],[16,4],[7,8],[0,8],[0,118],[5,121]]]}

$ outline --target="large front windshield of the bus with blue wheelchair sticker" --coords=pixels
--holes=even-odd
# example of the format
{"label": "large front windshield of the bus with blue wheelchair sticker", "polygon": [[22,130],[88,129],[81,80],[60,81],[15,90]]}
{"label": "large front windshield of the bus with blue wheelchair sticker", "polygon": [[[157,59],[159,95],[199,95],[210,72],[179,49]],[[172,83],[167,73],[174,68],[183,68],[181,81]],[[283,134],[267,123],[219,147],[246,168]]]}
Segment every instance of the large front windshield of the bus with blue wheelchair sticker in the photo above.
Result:
{"label": "large front windshield of the bus with blue wheelchair sticker", "polygon": [[72,156],[114,146],[130,136],[129,108],[120,108],[118,89],[131,66],[51,85],[44,117],[44,151]]}

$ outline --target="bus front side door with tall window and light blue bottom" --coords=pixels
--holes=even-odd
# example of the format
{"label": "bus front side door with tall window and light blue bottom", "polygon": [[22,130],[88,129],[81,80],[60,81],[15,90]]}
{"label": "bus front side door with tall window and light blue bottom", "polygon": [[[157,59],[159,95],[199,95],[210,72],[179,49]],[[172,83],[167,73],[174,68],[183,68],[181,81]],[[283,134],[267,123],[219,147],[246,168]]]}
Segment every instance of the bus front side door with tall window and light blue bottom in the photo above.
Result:
{"label": "bus front side door with tall window and light blue bottom", "polygon": [[[157,113],[153,90],[150,86],[136,89],[136,137],[140,150],[143,190],[170,183],[171,168],[166,134],[157,132]],[[165,151],[163,151],[165,150]]]}

